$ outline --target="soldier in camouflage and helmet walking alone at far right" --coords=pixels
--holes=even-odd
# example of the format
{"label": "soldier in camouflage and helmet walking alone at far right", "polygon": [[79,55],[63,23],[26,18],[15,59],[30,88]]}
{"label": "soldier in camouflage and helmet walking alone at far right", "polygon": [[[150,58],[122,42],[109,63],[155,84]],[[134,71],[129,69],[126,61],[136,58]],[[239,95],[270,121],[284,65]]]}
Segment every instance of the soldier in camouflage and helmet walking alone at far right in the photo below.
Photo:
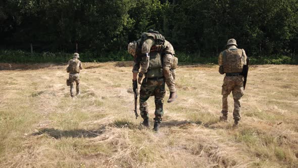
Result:
{"label": "soldier in camouflage and helmet walking alone at far right", "polygon": [[246,69],[248,71],[248,64],[246,63],[247,57],[245,51],[243,49],[237,49],[235,39],[229,39],[226,47],[227,50],[221,52],[218,58],[218,64],[220,66],[219,73],[226,74],[222,86],[222,116],[220,117],[220,120],[227,121],[228,119],[228,96],[232,92],[234,99],[233,119],[234,127],[236,127],[241,119],[241,97],[243,96],[244,90],[243,75],[245,76],[243,72]]}

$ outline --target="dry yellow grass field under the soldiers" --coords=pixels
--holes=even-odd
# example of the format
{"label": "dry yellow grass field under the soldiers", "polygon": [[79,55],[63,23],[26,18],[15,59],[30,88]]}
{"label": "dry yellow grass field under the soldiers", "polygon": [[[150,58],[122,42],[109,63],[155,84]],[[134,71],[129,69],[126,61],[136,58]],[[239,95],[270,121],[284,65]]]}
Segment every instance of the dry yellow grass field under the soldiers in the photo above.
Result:
{"label": "dry yellow grass field under the soldiers", "polygon": [[151,128],[135,119],[131,65],[84,63],[76,99],[66,65],[0,71],[0,167],[298,167],[298,66],[251,67],[237,129],[219,122],[218,67],[180,66],[155,133],[153,98]]}

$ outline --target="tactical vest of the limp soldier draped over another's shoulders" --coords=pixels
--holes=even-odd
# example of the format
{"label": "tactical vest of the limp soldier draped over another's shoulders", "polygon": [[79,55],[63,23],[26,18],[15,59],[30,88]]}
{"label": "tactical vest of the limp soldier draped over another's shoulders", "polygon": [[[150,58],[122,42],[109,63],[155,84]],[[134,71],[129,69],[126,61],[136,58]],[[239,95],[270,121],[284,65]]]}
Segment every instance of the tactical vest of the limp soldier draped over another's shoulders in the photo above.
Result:
{"label": "tactical vest of the limp soldier draped over another's shoulders", "polygon": [[[152,52],[161,51],[165,48],[164,44],[165,44],[166,39],[160,33],[147,33],[147,32],[142,33],[140,44],[143,44],[143,42],[149,37],[152,37],[154,39],[154,45],[152,46],[152,48],[154,48],[154,50]],[[141,45],[139,47],[141,48]]]}

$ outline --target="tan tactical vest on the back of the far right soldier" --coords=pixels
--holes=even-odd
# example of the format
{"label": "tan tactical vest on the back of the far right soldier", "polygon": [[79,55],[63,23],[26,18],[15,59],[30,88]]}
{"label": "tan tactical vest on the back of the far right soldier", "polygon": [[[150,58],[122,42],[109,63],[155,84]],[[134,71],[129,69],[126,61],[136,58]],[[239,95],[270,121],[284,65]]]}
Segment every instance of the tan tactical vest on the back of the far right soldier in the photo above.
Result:
{"label": "tan tactical vest on the back of the far right soldier", "polygon": [[241,73],[243,70],[244,59],[241,49],[225,50],[223,52],[223,71],[224,73]]}

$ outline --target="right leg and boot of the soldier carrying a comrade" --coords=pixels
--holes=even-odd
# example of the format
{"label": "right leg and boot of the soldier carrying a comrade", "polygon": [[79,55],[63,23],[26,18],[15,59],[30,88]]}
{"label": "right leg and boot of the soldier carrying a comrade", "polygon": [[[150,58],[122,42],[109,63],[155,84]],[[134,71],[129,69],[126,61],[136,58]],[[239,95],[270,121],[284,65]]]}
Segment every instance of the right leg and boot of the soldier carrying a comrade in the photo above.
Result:
{"label": "right leg and boot of the soldier carrying a comrade", "polygon": [[166,95],[165,91],[165,82],[164,81],[158,81],[158,87],[155,89],[154,93],[154,100],[155,100],[155,122],[154,122],[154,130],[159,130],[159,124],[162,121],[162,117],[164,115],[164,97]]}

